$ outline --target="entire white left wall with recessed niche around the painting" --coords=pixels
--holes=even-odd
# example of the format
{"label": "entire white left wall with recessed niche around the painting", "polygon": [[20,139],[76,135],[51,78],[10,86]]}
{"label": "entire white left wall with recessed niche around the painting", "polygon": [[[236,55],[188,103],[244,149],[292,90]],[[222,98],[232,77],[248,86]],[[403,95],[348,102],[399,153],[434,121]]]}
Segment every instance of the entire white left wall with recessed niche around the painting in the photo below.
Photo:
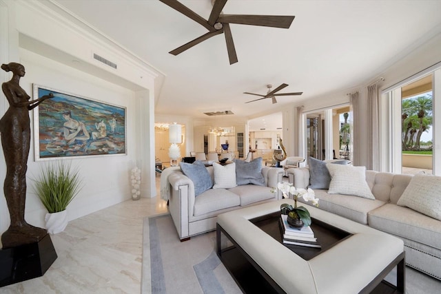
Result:
{"label": "entire white left wall with recessed niche around the painting", "polygon": [[[150,169],[150,166],[154,167],[154,136],[151,134],[154,134],[155,72],[118,46],[104,43],[99,37],[94,38],[93,32],[84,32],[74,23],[46,10],[41,3],[0,0],[0,15],[0,63],[14,61],[25,66],[26,74],[20,85],[28,94],[32,96],[32,84],[35,83],[127,109],[127,155],[71,160],[72,165],[80,169],[84,187],[68,207],[69,220],[130,199],[129,169],[134,160],[142,162],[143,197],[155,196],[154,170]],[[5,15],[7,17],[3,17]],[[40,43],[43,41],[47,43]],[[104,56],[118,56],[119,70],[107,70],[107,65],[97,64],[92,59],[92,50],[99,50]],[[72,63],[73,59],[81,62]],[[0,82],[10,80],[11,76],[2,73]],[[0,116],[8,107],[2,93]],[[33,133],[32,112],[30,118]],[[32,193],[30,178],[39,173],[45,161],[34,161],[33,146],[31,138],[25,219],[43,227],[46,211]],[[0,181],[3,185],[6,163],[3,152],[0,151],[0,155]],[[3,233],[9,226],[3,189],[0,198],[0,233]]]}

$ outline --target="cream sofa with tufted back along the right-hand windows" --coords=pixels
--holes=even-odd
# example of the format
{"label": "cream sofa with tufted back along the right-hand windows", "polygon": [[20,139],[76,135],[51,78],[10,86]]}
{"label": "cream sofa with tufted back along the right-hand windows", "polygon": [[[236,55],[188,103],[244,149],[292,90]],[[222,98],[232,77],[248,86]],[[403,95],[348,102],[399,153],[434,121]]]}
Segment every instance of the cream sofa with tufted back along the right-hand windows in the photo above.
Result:
{"label": "cream sofa with tufted back along the right-hand windows", "polygon": [[[287,173],[294,187],[310,185],[308,167],[288,169]],[[365,180],[375,199],[331,194],[328,189],[314,191],[320,199],[320,209],[397,236],[404,241],[406,264],[441,280],[441,221],[397,204],[412,178],[411,175],[365,171]],[[422,193],[416,193],[415,198]]]}

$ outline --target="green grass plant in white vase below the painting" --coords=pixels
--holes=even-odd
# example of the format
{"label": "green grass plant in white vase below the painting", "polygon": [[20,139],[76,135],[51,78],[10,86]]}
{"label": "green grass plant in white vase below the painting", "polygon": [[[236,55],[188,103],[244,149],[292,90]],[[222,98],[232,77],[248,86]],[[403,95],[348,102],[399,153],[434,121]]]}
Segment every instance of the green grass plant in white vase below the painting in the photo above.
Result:
{"label": "green grass plant in white vase below the painting", "polygon": [[35,193],[48,209],[45,216],[48,233],[64,231],[68,225],[66,208],[83,186],[79,169],[72,169],[70,163],[53,162],[41,169],[34,182]]}

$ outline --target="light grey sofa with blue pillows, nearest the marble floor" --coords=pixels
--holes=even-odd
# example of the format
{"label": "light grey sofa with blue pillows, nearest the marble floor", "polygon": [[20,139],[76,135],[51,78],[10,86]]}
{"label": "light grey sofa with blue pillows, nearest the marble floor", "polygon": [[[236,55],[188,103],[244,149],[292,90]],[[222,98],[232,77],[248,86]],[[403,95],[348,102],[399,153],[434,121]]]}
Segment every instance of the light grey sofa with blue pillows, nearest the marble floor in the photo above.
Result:
{"label": "light grey sofa with blue pillows, nearest the marble floor", "polygon": [[[261,160],[262,158],[258,160],[261,168],[258,173],[263,177],[261,185],[237,185],[228,189],[210,188],[197,196],[195,196],[194,182],[185,176],[183,171],[170,172],[167,175],[167,182],[170,185],[169,209],[179,239],[188,240],[193,235],[214,231],[220,213],[282,199],[282,193],[274,188],[277,187],[278,182],[282,182],[283,169],[261,167]],[[206,169],[214,179],[214,167],[209,166]]]}

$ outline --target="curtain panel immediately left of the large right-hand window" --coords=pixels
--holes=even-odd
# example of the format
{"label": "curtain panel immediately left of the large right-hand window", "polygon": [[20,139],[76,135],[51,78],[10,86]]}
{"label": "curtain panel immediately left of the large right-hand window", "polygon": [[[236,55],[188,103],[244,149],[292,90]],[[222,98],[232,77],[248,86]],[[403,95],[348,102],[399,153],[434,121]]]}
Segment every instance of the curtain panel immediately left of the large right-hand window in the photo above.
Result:
{"label": "curtain panel immediately left of the large right-hand window", "polygon": [[367,87],[367,111],[368,111],[368,124],[367,124],[367,169],[373,169],[378,171],[380,162],[378,162],[378,150],[379,150],[379,134],[378,134],[378,89],[377,84],[373,84]]}

